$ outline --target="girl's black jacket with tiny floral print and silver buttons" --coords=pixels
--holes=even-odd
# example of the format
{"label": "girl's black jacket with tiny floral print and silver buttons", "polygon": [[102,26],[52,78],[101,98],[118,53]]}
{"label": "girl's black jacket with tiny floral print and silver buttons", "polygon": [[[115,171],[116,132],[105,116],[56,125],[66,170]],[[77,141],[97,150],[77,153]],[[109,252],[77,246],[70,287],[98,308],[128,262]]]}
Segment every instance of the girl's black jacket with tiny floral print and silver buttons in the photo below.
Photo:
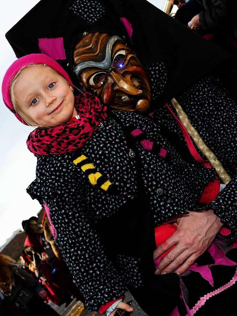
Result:
{"label": "girl's black jacket with tiny floral print and silver buttons", "polygon": [[[214,169],[184,161],[150,117],[112,113],[78,152],[38,156],[36,179],[27,188],[49,207],[55,242],[90,311],[123,295],[126,286],[142,286],[147,271],[153,275],[154,228],[198,210],[196,200],[215,179]],[[166,157],[130,139],[131,125]],[[114,192],[91,185],[73,163],[80,155],[113,183]]]}

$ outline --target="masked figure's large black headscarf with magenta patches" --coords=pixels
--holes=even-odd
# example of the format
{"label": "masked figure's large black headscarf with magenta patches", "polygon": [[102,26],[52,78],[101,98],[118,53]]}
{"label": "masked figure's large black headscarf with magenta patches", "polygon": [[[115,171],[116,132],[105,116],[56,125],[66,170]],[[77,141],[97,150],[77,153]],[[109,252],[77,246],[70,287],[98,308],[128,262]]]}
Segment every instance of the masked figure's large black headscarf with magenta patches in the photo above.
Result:
{"label": "masked figure's large black headscarf with magenta patches", "polygon": [[145,0],[41,0],[6,38],[18,58],[42,52],[72,76],[74,46],[84,32],[96,31],[124,36],[144,67],[165,64],[162,100],[231,57]]}

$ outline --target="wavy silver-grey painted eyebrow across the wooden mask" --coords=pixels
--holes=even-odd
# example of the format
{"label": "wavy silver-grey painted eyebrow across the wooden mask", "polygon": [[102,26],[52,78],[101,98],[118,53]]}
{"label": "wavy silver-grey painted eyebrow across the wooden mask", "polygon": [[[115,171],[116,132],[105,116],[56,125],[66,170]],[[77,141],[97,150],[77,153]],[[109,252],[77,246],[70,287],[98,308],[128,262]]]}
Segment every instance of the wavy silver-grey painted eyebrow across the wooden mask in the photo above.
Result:
{"label": "wavy silver-grey painted eyebrow across the wooden mask", "polygon": [[110,64],[111,64],[112,47],[117,40],[122,40],[122,38],[117,35],[110,37],[109,42],[107,43],[107,46],[106,46],[105,59],[102,62],[86,61],[84,63],[80,63],[74,66],[75,74],[78,76],[81,70],[88,67],[99,68],[99,69],[109,69]]}

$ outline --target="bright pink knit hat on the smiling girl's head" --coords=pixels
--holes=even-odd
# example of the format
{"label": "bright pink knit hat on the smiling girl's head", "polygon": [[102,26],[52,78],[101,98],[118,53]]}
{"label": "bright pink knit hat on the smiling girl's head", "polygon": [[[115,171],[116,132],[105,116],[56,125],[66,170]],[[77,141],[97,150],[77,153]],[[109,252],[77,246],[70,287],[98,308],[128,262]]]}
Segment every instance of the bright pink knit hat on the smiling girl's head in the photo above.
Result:
{"label": "bright pink knit hat on the smiling girl's head", "polygon": [[67,72],[57,63],[53,58],[48,57],[44,54],[30,54],[23,56],[19,59],[17,59],[7,70],[5,73],[5,76],[3,78],[2,83],[2,94],[3,94],[3,102],[5,105],[9,108],[9,110],[14,113],[16,118],[22,122],[25,125],[28,125],[14,110],[11,98],[10,98],[10,85],[12,82],[12,79],[16,76],[17,72],[24,66],[27,66],[29,64],[46,64],[47,66],[57,70],[60,75],[62,75],[70,84],[72,87],[72,81],[69,78]]}

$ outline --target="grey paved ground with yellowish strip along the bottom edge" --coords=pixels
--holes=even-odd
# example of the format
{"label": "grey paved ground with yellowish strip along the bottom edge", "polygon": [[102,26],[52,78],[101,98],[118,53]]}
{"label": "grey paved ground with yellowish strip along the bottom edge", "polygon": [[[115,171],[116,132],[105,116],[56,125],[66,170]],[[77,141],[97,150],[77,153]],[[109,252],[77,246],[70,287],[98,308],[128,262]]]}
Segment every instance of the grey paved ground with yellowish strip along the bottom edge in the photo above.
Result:
{"label": "grey paved ground with yellowish strip along the bottom edge", "polygon": [[[125,302],[130,301],[132,298],[133,298],[132,295],[129,292],[127,292]],[[51,302],[49,304],[61,316],[80,316],[80,315],[81,316],[95,316],[95,315],[100,316],[99,313],[95,313],[95,312],[90,313],[87,309],[83,309],[82,303],[76,300],[73,300],[67,307],[65,307],[65,304],[61,306],[56,306]],[[147,314],[143,312],[143,310],[138,306],[135,300],[133,300],[132,306],[134,308],[133,316],[147,316]]]}

